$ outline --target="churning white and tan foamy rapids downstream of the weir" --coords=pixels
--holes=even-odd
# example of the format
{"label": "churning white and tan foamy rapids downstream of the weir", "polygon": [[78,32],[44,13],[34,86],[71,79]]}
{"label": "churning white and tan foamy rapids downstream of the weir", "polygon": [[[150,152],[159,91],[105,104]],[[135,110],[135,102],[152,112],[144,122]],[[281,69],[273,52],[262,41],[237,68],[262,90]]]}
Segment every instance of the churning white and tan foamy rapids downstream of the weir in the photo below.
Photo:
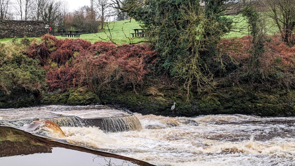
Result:
{"label": "churning white and tan foamy rapids downstream of the weir", "polygon": [[[191,118],[140,114],[136,116],[143,128],[146,125],[165,125],[166,123],[178,123],[178,126],[102,134],[105,142],[102,142],[98,135],[90,136],[91,133],[97,133],[98,128],[87,128],[90,134],[87,139],[73,136],[77,132],[84,135],[84,129],[80,131],[72,131],[72,128],[68,127],[62,129],[71,135],[71,142],[87,142],[86,144],[95,148],[159,166],[295,165],[293,123],[291,125],[290,123],[267,123],[273,120],[286,120],[284,118],[257,117],[255,120],[258,122],[252,123],[251,116],[215,115],[214,117],[210,115],[193,118],[201,124],[192,126],[187,122]],[[295,120],[295,118],[287,118],[287,120]],[[241,121],[248,121],[248,123],[231,124]]]}

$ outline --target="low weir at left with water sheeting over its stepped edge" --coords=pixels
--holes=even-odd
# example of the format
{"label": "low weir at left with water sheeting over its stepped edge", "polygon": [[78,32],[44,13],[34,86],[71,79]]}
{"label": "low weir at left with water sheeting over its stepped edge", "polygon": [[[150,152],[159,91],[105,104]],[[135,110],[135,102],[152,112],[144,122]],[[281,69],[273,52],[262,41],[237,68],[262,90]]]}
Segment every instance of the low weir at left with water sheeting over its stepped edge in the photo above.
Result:
{"label": "low weir at left with water sheeting over its stepped edge", "polygon": [[[49,106],[48,106],[49,107]],[[57,108],[61,109],[57,109]],[[2,126],[13,126],[13,127],[24,127],[31,124],[34,121],[53,121],[60,127],[99,127],[105,132],[120,132],[120,131],[140,131],[142,129],[140,121],[136,116],[129,113],[114,110],[112,108],[106,109],[103,107],[99,109],[99,106],[89,106],[90,108],[83,108],[79,110],[77,107],[66,109],[65,106],[57,106],[57,108],[52,109],[53,111],[48,113],[47,107],[35,108],[38,112],[34,113],[33,109],[23,110],[30,111],[30,116],[42,115],[43,110],[46,110],[47,115],[53,114],[52,118],[26,118],[24,119],[13,119],[0,121]],[[74,109],[75,108],[75,109]],[[28,108],[29,109],[29,108]],[[58,111],[55,111],[58,110]],[[13,110],[11,110],[13,111]],[[80,116],[80,117],[79,117]],[[89,118],[88,118],[89,117]]]}

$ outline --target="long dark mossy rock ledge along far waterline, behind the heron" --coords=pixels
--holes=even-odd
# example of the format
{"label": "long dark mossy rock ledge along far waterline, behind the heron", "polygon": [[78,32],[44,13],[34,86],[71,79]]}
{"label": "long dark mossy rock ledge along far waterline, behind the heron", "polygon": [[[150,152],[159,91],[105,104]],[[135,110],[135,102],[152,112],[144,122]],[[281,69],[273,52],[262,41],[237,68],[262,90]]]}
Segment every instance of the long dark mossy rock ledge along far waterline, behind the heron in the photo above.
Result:
{"label": "long dark mossy rock ledge along far waterline, behind the heron", "polygon": [[[110,93],[101,97],[105,104],[114,104],[132,112],[168,116],[196,116],[210,114],[247,114],[258,116],[294,116],[295,93],[260,92],[252,87],[219,88],[216,92],[195,95],[194,99],[178,95],[176,90],[151,95],[145,90],[120,94]],[[162,95],[164,94],[164,95]],[[176,102],[174,113],[171,106]]]}

